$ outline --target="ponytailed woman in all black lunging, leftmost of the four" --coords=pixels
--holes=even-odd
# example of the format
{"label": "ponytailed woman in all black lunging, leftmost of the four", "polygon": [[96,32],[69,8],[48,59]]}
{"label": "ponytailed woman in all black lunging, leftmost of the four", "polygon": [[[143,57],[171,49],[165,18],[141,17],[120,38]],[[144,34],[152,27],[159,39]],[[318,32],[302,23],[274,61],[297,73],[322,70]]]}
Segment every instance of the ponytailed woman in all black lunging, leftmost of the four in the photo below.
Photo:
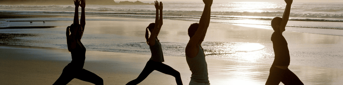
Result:
{"label": "ponytailed woman in all black lunging, leftmost of the four", "polygon": [[[85,27],[85,0],[74,1],[75,15],[74,23],[68,26],[66,36],[68,50],[71,53],[72,61],[66,67],[64,67],[61,76],[56,80],[53,85],[66,85],[72,79],[76,78],[82,81],[91,82],[96,85],[103,85],[103,79],[98,75],[83,69],[85,62],[86,48],[81,43],[81,37]],[[81,6],[81,25],[79,24],[79,5]],[[69,35],[70,33],[70,35]]]}

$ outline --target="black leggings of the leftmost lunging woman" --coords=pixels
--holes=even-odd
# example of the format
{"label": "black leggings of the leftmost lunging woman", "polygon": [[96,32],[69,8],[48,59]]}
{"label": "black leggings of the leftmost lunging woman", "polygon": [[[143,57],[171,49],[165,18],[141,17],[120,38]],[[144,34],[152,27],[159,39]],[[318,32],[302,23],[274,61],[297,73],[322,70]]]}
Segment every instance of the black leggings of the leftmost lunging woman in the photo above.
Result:
{"label": "black leggings of the leftmost lunging woman", "polygon": [[61,76],[52,85],[66,85],[74,78],[91,82],[95,85],[104,85],[104,81],[98,75],[86,69],[75,69],[75,66],[67,65],[64,67]]}

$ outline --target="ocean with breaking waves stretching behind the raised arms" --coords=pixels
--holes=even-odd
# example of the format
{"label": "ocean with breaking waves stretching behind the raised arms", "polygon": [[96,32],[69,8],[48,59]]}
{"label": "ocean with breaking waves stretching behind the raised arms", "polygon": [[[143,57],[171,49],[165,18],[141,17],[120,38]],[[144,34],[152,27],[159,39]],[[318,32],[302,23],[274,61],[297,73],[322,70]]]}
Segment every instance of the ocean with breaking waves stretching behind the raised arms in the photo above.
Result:
{"label": "ocean with breaking waves stretching behind the raised arms", "polygon": [[[202,2],[164,2],[164,18],[198,21]],[[213,3],[211,22],[229,24],[270,25],[274,17],[282,17],[285,3],[224,2]],[[293,3],[288,27],[343,29],[343,3]],[[38,13],[38,15],[73,14],[71,5],[0,5],[0,12]],[[22,11],[18,11],[22,10]],[[81,10],[81,9],[79,9]],[[154,17],[153,5],[87,5],[87,15]],[[322,24],[318,24],[322,23]],[[2,24],[3,25],[3,24]],[[2,26],[3,27],[3,26]],[[268,28],[271,29],[271,28]]]}

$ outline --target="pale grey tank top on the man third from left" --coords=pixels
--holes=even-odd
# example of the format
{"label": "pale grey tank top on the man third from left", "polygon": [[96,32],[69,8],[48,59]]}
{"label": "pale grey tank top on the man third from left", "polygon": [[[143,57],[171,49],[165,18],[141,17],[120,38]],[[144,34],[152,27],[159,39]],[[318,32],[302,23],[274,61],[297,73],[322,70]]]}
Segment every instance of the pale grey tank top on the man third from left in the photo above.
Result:
{"label": "pale grey tank top on the man third from left", "polygon": [[207,72],[205,54],[201,48],[202,47],[199,45],[199,52],[196,57],[189,58],[186,55],[186,60],[189,70],[192,71],[191,79],[198,83],[209,83],[209,73]]}

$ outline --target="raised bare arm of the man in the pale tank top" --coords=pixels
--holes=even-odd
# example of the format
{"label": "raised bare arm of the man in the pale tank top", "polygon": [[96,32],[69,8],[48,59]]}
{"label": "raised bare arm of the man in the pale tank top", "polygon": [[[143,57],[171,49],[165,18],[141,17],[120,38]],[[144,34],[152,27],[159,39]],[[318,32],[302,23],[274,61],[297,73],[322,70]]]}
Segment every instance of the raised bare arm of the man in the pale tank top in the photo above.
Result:
{"label": "raised bare arm of the man in the pale tank top", "polygon": [[203,2],[205,3],[205,7],[200,17],[199,28],[195,32],[193,37],[190,38],[186,46],[186,55],[190,58],[197,56],[198,50],[201,49],[201,48],[198,48],[197,44],[199,43],[201,36],[203,34],[203,31],[206,27],[206,23],[208,22],[209,11],[210,11],[213,0],[203,0]]}

